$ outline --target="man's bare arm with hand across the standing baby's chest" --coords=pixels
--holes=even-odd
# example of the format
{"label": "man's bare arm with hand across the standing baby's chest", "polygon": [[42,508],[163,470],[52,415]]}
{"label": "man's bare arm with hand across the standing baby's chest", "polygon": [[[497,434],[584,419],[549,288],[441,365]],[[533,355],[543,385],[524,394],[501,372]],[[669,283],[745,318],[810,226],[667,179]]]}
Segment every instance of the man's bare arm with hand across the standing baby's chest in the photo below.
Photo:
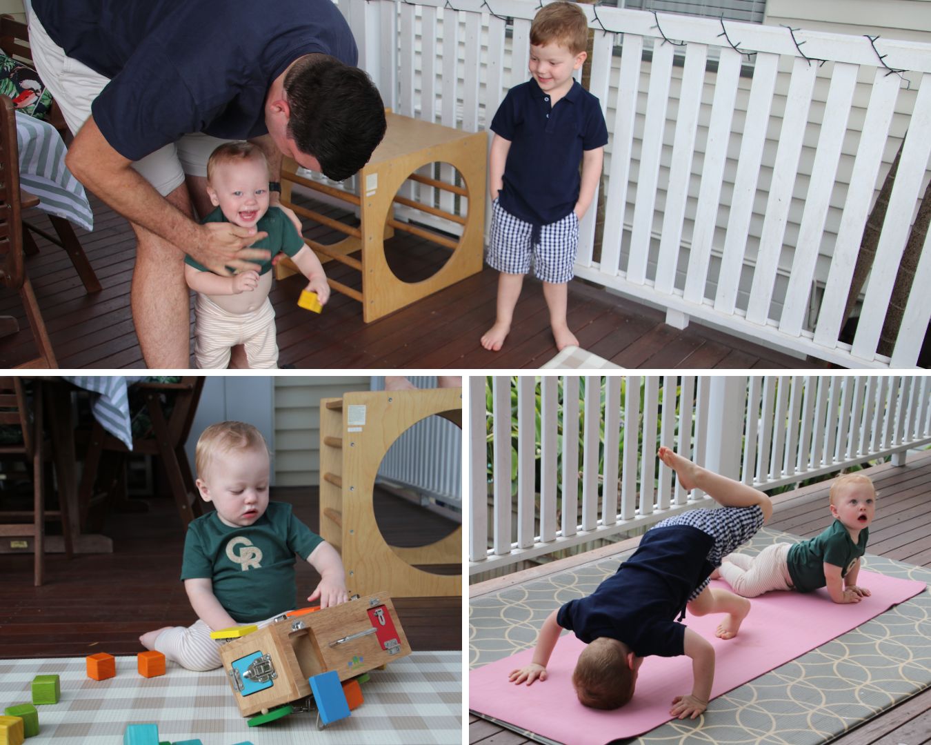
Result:
{"label": "man's bare arm with hand across the standing baby's chest", "polygon": [[173,206],[117,153],[90,116],[74,137],[65,159],[74,177],[131,223],[155,233],[220,275],[225,267],[258,269],[250,259],[267,259],[268,251],[247,249],[265,234],[230,223],[196,224]]}

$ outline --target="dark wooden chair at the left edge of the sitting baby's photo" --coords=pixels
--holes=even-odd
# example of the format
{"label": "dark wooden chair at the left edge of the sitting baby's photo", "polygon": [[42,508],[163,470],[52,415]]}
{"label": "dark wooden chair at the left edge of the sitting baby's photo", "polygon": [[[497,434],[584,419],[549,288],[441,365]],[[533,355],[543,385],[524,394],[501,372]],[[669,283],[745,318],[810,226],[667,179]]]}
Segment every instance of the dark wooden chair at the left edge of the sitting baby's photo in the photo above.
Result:
{"label": "dark wooden chair at the left edge of the sitting baby's photo", "polygon": [[[21,442],[0,445],[0,456],[12,455],[17,459],[28,461],[33,479],[33,509],[5,510],[0,512],[0,536],[4,538],[26,538],[20,549],[32,549],[35,555],[34,583],[39,587],[45,572],[45,523],[50,519],[59,519],[63,525],[65,550],[69,558],[72,555],[71,532],[69,530],[68,508],[61,500],[59,510],[45,508],[44,459],[47,456],[45,438],[42,431],[42,383],[33,383],[33,405],[23,390],[23,381],[19,377],[0,378],[0,424],[19,427]],[[10,520],[28,520],[30,522],[7,522]]]}

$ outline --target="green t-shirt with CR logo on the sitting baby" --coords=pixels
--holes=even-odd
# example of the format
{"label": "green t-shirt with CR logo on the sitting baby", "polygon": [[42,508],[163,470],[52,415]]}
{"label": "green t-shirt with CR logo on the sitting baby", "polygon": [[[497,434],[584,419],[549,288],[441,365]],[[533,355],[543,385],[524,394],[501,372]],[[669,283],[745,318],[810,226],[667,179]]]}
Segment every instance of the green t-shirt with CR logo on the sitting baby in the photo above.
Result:
{"label": "green t-shirt with CR logo on the sitting baby", "polygon": [[181,578],[210,579],[237,622],[261,621],[296,607],[294,554],[305,560],[322,541],[288,504],[269,502],[246,527],[225,525],[209,512],[188,525]]}

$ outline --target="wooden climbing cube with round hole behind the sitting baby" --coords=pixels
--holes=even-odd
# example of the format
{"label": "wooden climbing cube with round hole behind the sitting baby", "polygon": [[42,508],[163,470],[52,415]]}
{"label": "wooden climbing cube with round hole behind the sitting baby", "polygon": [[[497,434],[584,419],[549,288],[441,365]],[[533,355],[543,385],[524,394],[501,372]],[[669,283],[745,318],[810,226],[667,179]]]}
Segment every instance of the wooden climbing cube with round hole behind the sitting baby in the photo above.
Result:
{"label": "wooden climbing cube with round hole behind the sitting baby", "polygon": [[368,391],[320,401],[320,535],[343,557],[350,593],[388,587],[395,597],[452,596],[460,576],[412,564],[462,562],[462,526],[428,546],[385,542],[375,521],[375,476],[391,444],[421,419],[439,414],[462,427],[462,388]]}

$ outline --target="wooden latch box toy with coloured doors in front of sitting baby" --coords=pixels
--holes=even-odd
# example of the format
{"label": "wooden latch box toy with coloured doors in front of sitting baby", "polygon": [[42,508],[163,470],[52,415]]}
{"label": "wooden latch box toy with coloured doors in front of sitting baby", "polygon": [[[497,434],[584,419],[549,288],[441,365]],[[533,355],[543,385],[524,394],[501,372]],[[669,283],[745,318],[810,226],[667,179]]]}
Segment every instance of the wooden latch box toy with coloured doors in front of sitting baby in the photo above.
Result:
{"label": "wooden latch box toy with coloured doors in front of sitting baby", "polygon": [[385,592],[282,616],[220,647],[243,716],[310,696],[308,679],[321,672],[335,671],[344,681],[409,654],[411,645]]}

